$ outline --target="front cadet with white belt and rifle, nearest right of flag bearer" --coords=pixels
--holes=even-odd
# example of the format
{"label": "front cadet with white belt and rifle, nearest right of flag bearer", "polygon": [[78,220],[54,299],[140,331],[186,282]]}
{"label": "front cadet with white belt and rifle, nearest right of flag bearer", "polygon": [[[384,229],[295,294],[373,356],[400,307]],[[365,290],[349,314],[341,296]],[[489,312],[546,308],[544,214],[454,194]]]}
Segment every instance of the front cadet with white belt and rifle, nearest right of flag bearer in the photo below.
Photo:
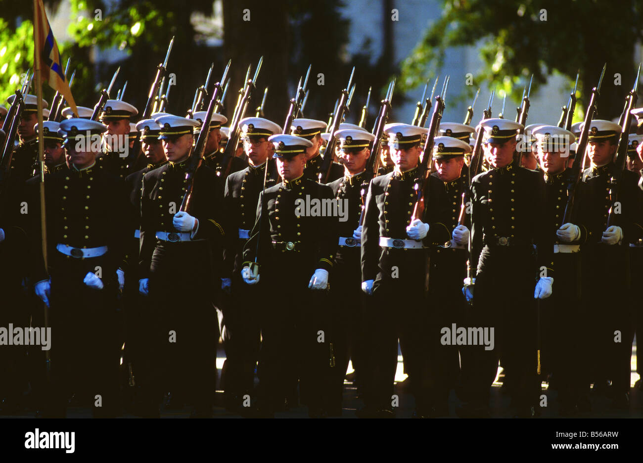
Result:
{"label": "front cadet with white belt and rifle, nearest right of flag bearer", "polygon": [[199,123],[172,115],[156,123],[168,163],[143,176],[138,275],[139,291],[149,294],[156,315],[151,360],[159,377],[152,383],[167,385],[183,399],[190,394],[193,416],[208,417],[218,339],[211,291],[221,272],[223,198],[217,174],[201,165],[194,173],[190,210],[179,211],[188,187],[192,132]]}

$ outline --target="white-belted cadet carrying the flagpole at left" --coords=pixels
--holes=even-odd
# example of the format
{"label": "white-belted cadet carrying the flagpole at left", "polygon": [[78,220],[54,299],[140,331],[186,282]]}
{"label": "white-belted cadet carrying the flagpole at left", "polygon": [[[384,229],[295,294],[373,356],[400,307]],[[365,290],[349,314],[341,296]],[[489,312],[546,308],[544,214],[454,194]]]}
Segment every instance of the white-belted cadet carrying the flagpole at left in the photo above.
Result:
{"label": "white-belted cadet carrying the flagpole at left", "polygon": [[125,241],[125,192],[118,177],[96,168],[92,147],[98,145],[104,125],[71,118],[61,122],[60,129],[71,168],[53,172],[45,183],[48,268],[40,224],[32,217],[33,246],[39,252],[34,289],[51,309],[51,332],[57,340],[51,347],[53,388],[44,414],[64,416],[75,393],[93,403],[95,416],[115,416],[120,408],[116,269]]}

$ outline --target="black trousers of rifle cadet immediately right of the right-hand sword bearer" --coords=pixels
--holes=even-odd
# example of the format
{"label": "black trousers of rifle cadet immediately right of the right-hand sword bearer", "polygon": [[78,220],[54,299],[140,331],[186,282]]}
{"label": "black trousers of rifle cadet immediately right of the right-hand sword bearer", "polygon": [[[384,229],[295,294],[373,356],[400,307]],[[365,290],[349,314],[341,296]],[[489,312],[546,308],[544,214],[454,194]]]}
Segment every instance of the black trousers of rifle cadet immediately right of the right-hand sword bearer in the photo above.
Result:
{"label": "black trousers of rifle cadet immediately right of the right-hand sword bearer", "polygon": [[584,352],[588,340],[588,317],[581,304],[580,253],[554,254],[552,295],[540,302],[543,336],[543,374],[554,374],[561,404],[574,406],[589,387],[589,362]]}

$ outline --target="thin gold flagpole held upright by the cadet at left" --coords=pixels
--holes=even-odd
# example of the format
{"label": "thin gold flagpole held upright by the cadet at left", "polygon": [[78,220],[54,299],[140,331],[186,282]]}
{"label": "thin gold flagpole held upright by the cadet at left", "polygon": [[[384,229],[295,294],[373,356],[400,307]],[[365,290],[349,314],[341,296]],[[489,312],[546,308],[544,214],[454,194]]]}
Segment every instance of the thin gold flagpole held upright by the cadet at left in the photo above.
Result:
{"label": "thin gold flagpole held upright by the cadet at left", "polygon": [[[41,167],[41,181],[40,181],[40,197],[41,197],[41,237],[42,237],[42,257],[44,259],[44,268],[49,270],[47,265],[47,222],[44,204],[44,137],[42,136],[42,82],[41,82],[41,30],[38,18],[39,1],[33,0],[33,74],[35,77],[36,96],[38,104],[38,159],[40,159]],[[43,6],[44,8],[44,6]],[[44,325],[45,328],[49,326],[49,309],[44,305]],[[49,354],[49,351],[46,351]],[[49,362],[49,356],[47,355]]]}

